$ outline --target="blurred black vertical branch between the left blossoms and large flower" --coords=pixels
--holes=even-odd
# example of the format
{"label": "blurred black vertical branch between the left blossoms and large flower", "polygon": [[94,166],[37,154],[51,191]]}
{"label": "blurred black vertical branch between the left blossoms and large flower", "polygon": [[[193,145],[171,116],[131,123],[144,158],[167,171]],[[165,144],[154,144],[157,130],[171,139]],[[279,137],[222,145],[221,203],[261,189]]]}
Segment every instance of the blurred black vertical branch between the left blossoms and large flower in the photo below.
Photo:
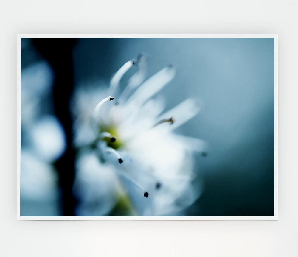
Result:
{"label": "blurred black vertical branch between the left blossoms and large flower", "polygon": [[35,38],[34,44],[55,72],[53,99],[55,114],[66,133],[67,149],[55,163],[59,172],[63,197],[63,215],[74,216],[75,199],[72,185],[75,177],[75,150],[72,147],[72,120],[69,99],[73,89],[72,38]]}

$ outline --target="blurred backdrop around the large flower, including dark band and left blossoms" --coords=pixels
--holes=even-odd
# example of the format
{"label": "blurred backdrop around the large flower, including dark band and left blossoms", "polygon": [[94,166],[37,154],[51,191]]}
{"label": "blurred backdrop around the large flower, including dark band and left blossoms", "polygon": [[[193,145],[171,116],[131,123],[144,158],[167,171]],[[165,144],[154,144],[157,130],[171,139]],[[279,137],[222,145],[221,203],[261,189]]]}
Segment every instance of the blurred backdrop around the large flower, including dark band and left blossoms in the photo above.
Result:
{"label": "blurred backdrop around the large flower, including dark band and left blossoms", "polygon": [[185,215],[274,216],[274,38],[22,38],[21,216],[76,215],[73,92],[108,85],[139,53],[148,77],[177,69],[160,93],[166,110],[202,102],[177,129],[209,146],[196,155],[203,189]]}

